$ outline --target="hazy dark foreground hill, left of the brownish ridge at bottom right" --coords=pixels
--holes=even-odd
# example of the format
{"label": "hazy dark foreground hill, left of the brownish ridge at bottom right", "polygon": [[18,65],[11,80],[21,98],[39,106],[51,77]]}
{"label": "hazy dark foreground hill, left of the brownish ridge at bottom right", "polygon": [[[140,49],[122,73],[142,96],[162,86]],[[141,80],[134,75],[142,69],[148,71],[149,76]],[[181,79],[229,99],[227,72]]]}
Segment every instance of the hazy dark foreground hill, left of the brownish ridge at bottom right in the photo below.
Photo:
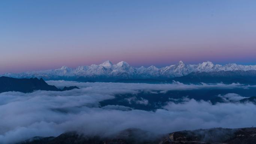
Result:
{"label": "hazy dark foreground hill, left of the brownish ridge at bottom right", "polygon": [[140,129],[126,129],[112,137],[66,132],[58,137],[34,137],[17,144],[158,144],[163,138]]}

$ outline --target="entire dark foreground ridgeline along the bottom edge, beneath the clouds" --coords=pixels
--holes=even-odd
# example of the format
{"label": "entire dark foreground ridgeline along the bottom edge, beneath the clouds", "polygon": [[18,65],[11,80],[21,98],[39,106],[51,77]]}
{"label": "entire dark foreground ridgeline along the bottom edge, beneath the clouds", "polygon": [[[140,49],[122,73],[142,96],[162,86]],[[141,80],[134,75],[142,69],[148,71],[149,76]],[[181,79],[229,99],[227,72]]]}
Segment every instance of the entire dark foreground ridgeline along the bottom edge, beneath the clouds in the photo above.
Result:
{"label": "entire dark foreground ridgeline along the bottom edge, beneath the clouds", "polygon": [[19,144],[255,144],[255,135],[256,128],[198,129],[173,132],[167,136],[128,129],[113,137],[88,137],[77,132],[67,132],[58,137],[34,137]]}

